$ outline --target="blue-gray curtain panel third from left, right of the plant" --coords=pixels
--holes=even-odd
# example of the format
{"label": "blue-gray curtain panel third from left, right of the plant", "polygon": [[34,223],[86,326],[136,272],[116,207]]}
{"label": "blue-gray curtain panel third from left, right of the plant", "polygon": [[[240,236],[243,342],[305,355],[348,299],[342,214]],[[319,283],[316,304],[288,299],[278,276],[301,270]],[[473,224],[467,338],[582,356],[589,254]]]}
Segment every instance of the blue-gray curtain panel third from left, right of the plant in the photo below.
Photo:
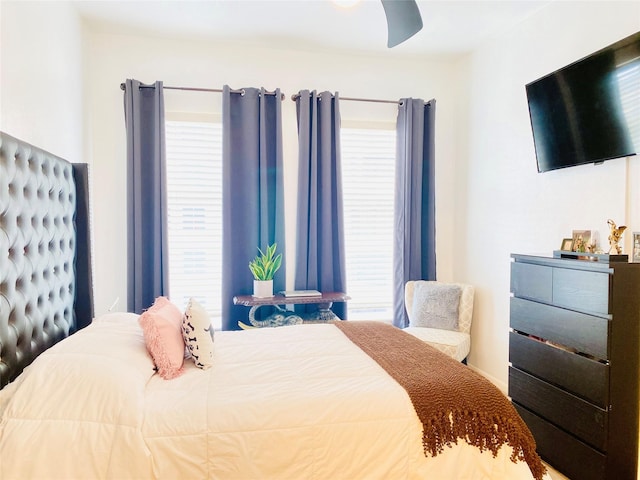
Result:
{"label": "blue-gray curtain panel third from left, right of the plant", "polygon": [[[302,90],[298,118],[295,288],[346,292],[338,94]],[[346,319],[344,303],[332,308]]]}

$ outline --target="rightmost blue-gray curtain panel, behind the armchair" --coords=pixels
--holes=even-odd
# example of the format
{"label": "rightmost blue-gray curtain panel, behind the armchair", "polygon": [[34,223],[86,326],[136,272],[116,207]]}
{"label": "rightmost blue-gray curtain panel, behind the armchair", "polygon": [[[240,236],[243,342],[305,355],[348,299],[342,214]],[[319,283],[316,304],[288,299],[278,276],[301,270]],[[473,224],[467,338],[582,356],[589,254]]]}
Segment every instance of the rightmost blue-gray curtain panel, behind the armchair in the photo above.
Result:
{"label": "rightmost blue-gray curtain panel, behind the armchair", "polygon": [[436,279],[435,110],[435,100],[411,98],[398,109],[393,321],[401,328],[409,325],[404,284]]}

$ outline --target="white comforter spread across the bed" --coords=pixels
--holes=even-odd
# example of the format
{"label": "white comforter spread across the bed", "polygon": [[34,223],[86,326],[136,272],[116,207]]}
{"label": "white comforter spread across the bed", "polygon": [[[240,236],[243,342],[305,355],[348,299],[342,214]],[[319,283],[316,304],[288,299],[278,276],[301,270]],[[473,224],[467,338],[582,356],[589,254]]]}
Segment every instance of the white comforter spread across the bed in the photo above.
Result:
{"label": "white comforter spread across the bed", "polygon": [[0,391],[0,479],[531,479],[464,442],[425,458],[406,392],[336,327],[216,332],[214,366],[154,374],[110,314]]}

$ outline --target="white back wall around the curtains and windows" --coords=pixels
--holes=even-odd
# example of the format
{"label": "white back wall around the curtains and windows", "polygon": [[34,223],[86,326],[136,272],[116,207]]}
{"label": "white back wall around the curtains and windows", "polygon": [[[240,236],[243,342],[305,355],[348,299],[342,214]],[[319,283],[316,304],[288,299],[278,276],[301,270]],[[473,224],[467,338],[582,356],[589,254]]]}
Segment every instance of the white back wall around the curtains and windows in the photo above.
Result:
{"label": "white back wall around the curtains and windows", "polygon": [[[451,61],[398,59],[290,49],[265,49],[229,42],[145,38],[93,31],[87,37],[86,82],[89,98],[88,140],[92,145],[94,181],[94,232],[96,313],[116,298],[117,309],[126,308],[126,180],[125,127],[120,83],[135,78],[145,83],[163,80],[168,86],[222,88],[279,87],[283,103],[285,182],[289,185],[287,230],[295,231],[295,172],[297,134],[295,104],[301,89],[339,91],[342,96],[397,100],[401,97],[437,99],[436,144],[438,156],[438,266],[441,277],[451,278],[453,228],[454,106]],[[166,110],[220,112],[217,93],[165,90]],[[185,107],[185,103],[188,105]],[[395,124],[397,107],[385,104],[342,102],[345,122],[359,119]],[[441,239],[441,240],[440,240]],[[287,238],[289,258],[293,237]],[[291,263],[291,262],[290,262]],[[292,266],[292,265],[290,265]]]}

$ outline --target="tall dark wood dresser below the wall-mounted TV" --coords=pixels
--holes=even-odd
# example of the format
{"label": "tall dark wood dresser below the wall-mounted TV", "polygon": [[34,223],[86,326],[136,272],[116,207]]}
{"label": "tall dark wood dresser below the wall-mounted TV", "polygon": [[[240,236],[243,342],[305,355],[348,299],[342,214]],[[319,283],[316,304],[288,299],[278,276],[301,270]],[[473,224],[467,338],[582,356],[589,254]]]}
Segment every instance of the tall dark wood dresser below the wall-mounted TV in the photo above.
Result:
{"label": "tall dark wood dresser below the wall-mounted TV", "polygon": [[636,480],[640,263],[513,254],[509,396],[572,480]]}

